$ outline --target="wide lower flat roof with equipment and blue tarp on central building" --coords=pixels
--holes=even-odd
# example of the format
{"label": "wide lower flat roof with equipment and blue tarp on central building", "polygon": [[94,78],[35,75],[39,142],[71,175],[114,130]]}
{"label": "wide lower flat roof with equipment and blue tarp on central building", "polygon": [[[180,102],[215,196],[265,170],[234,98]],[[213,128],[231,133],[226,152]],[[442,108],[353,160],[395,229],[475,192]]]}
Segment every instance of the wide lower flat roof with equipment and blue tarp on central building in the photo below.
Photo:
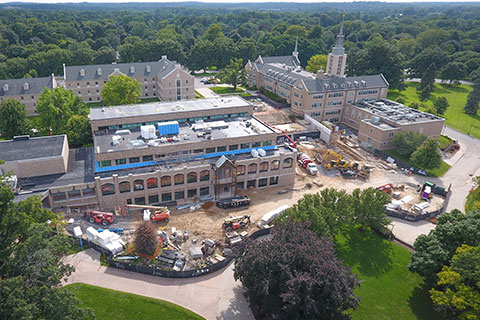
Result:
{"label": "wide lower flat roof with equipment and blue tarp on central building", "polygon": [[[206,128],[211,129],[211,133],[205,134],[203,137],[199,137],[199,133],[205,133]],[[122,130],[124,131],[124,130]],[[140,130],[131,132],[130,134],[119,135],[121,139],[117,145],[113,145],[112,135],[96,135],[94,136],[94,145],[96,153],[106,153],[112,151],[124,151],[132,149],[142,149],[149,147],[162,147],[170,145],[181,144],[195,144],[201,141],[218,140],[226,138],[239,138],[245,136],[259,135],[274,133],[271,128],[265,126],[263,123],[253,117],[248,118],[232,118],[220,121],[205,121],[196,122],[191,125],[183,124],[180,126],[178,135],[175,135],[177,141],[162,141],[161,137],[157,139],[145,140],[141,136]],[[158,129],[156,130],[158,135]],[[210,136],[211,138],[207,138]],[[172,137],[170,135],[170,137]],[[150,143],[151,145],[149,145]],[[192,145],[192,149],[195,146]]]}

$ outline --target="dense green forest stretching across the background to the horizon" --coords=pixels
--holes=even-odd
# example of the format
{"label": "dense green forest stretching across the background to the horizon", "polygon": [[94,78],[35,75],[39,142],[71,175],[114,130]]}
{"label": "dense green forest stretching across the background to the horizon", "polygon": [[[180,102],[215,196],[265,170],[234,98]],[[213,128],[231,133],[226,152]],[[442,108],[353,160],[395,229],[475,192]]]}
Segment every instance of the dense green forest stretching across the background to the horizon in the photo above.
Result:
{"label": "dense green forest stretching across the background to the horizon", "polygon": [[[293,4],[287,6],[291,11],[186,4],[155,5],[150,11],[145,5],[139,10],[103,5],[99,8],[109,10],[96,11],[32,6],[0,10],[2,79],[63,74],[62,63],[151,61],[162,55],[194,70],[223,68],[232,58],[290,54],[296,37],[306,64],[312,55],[330,51],[342,19],[339,5],[325,7],[329,11],[320,6],[302,11],[304,5],[294,11]],[[433,62],[440,76],[449,63],[460,63],[468,71],[464,78],[480,66],[480,6],[382,6],[355,6],[346,13],[350,75],[382,72],[392,87],[401,87],[403,69],[422,76]]]}

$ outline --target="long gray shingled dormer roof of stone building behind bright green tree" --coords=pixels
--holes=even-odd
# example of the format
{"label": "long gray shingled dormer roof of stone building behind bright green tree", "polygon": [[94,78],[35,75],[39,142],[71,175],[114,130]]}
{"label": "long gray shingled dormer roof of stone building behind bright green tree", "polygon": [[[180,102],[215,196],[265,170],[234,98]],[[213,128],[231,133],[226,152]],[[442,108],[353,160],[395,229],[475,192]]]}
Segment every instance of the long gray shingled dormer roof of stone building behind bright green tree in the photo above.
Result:
{"label": "long gray shingled dormer roof of stone building behind bright green tree", "polygon": [[[86,66],[67,66],[65,67],[65,79],[67,81],[75,80],[108,80],[108,77],[118,69],[121,73],[132,77],[141,78],[145,76],[155,76],[163,78],[173,70],[175,70],[175,61],[170,61],[162,58],[160,61],[152,62],[132,62],[119,64],[101,64],[101,65],[86,65]],[[134,68],[132,73],[131,67]],[[148,72],[150,67],[150,72]],[[98,74],[98,69],[101,69],[101,74]],[[84,70],[85,75],[80,75],[80,70]],[[184,69],[185,70],[185,69]]]}

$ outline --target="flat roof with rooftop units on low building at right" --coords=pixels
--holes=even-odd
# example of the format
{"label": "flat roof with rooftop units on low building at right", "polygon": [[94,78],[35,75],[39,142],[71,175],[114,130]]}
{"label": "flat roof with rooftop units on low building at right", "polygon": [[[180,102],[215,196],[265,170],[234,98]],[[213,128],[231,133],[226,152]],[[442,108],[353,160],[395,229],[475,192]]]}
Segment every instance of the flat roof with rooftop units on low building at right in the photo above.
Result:
{"label": "flat roof with rooftop units on low building at right", "polygon": [[[399,125],[445,120],[431,113],[409,108],[401,103],[388,99],[381,99],[376,102],[355,102],[353,105],[369,111],[380,118],[380,120],[388,120]],[[378,125],[378,123],[375,123],[376,120],[372,119],[369,121],[374,125]]]}

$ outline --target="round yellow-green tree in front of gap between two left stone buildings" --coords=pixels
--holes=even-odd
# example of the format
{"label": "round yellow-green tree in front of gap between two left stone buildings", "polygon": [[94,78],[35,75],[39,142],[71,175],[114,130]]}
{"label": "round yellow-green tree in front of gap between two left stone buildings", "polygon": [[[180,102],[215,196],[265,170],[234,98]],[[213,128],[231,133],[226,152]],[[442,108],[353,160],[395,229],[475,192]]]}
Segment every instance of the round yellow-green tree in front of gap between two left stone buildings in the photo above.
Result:
{"label": "round yellow-green tree in front of gap between two left stone buildings", "polygon": [[43,128],[51,128],[53,134],[65,133],[68,119],[73,115],[86,115],[82,99],[63,87],[44,89],[37,103],[37,112]]}

